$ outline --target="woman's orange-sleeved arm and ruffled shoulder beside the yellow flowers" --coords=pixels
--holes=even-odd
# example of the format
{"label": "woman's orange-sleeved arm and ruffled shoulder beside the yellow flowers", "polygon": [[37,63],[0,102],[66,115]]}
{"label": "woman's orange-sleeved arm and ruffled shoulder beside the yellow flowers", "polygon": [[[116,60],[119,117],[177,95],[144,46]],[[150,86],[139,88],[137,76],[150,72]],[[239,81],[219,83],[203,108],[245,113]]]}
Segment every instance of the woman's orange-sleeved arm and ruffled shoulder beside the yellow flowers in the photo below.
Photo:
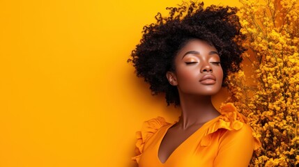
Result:
{"label": "woman's orange-sleeved arm and ruffled shoulder beside the yellow flowers", "polygon": [[248,166],[252,152],[261,147],[259,139],[233,104],[224,104],[220,112],[219,129],[215,133],[217,157],[213,166]]}

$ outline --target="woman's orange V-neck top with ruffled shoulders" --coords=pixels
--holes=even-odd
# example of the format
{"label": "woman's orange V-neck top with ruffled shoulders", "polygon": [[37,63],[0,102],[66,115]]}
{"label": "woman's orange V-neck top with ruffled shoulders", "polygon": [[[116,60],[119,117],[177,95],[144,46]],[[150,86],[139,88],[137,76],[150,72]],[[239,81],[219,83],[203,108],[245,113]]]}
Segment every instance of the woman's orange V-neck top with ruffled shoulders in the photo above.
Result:
{"label": "woman's orange V-neck top with ruffled shoulders", "polygon": [[174,124],[162,117],[144,122],[137,132],[137,156],[132,159],[140,167],[248,166],[253,150],[261,147],[259,139],[233,104],[222,105],[220,113],[183,141],[164,163],[158,150]]}

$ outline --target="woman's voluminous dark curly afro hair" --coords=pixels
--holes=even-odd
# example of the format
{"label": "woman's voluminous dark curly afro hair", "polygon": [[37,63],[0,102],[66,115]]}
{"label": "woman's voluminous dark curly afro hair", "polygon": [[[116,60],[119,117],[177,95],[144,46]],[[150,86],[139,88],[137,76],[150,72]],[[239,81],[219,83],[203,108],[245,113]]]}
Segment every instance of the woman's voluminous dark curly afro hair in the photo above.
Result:
{"label": "woman's voluminous dark curly afro hair", "polygon": [[144,26],[139,45],[132,51],[131,58],[137,77],[150,84],[153,95],[165,93],[167,105],[180,105],[178,90],[171,86],[166,73],[174,72],[177,52],[191,39],[199,39],[213,45],[219,52],[224,73],[222,86],[229,72],[237,72],[245,51],[240,33],[237,8],[208,6],[204,3],[184,2],[178,7],[166,8],[168,17],[160,13],[157,22]]}

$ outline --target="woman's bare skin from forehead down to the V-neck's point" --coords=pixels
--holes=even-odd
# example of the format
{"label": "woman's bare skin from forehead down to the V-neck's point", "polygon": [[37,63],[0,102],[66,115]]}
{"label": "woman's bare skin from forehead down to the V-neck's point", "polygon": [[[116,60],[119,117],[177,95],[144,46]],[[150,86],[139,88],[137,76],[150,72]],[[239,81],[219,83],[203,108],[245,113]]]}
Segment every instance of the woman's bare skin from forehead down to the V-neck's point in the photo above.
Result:
{"label": "woman's bare skin from forehead down to the V-neck's point", "polygon": [[174,63],[176,70],[167,72],[167,79],[178,88],[182,113],[160,144],[158,157],[162,163],[202,125],[220,116],[211,101],[211,96],[220,91],[223,79],[217,49],[192,39],[178,51]]}

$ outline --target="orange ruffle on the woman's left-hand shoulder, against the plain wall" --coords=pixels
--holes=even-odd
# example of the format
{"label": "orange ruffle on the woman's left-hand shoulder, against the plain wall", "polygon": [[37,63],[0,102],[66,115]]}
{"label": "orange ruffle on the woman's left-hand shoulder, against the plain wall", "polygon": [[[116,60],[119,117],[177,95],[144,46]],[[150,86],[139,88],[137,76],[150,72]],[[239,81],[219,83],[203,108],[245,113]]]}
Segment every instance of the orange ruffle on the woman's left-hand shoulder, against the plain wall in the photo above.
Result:
{"label": "orange ruffle on the woman's left-hand shoulder, against the plain wall", "polygon": [[139,162],[139,158],[144,152],[144,143],[150,138],[155,132],[158,131],[161,127],[164,127],[166,125],[169,125],[169,122],[166,122],[164,118],[158,117],[158,118],[153,118],[151,120],[147,120],[143,123],[141,127],[141,131],[136,132],[136,149],[135,152],[137,156],[132,157],[132,160]]}

